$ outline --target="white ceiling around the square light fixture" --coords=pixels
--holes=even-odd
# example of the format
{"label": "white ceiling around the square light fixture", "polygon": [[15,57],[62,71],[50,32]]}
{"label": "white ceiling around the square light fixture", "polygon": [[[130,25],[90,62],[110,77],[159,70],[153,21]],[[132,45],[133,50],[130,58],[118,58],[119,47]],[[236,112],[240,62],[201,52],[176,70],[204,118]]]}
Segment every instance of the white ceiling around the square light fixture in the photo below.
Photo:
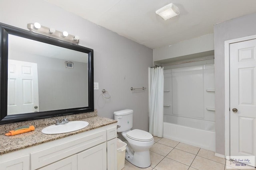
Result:
{"label": "white ceiling around the square light fixture", "polygon": [[[213,33],[213,25],[256,12],[256,0],[46,0],[152,49]],[[174,3],[180,15],[155,11]]]}

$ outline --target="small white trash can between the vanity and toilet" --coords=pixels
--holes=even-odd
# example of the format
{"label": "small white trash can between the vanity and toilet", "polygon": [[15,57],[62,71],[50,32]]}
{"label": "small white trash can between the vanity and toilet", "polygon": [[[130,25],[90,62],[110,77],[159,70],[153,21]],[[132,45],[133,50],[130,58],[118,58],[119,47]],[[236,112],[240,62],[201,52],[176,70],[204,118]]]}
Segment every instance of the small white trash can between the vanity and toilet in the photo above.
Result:
{"label": "small white trash can between the vanity and toilet", "polygon": [[124,168],[126,143],[117,138],[117,170]]}

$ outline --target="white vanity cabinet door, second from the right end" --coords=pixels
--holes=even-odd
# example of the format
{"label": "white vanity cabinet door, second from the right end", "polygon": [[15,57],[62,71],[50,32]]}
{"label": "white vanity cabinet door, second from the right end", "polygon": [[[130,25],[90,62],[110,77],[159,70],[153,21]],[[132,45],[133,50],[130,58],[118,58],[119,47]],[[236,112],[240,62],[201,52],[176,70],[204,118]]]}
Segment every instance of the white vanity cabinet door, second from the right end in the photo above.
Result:
{"label": "white vanity cabinet door, second from the right end", "polygon": [[106,142],[77,154],[78,170],[106,170]]}

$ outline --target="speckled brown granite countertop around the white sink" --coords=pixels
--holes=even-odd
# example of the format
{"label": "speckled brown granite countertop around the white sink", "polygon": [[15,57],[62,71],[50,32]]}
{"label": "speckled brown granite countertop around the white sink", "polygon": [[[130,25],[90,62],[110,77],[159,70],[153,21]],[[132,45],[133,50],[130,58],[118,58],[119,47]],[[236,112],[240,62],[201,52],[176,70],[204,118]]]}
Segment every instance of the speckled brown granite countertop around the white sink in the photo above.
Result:
{"label": "speckled brown granite countertop around the white sink", "polygon": [[49,141],[54,141],[56,139],[60,139],[63,137],[75,135],[77,133],[90,131],[92,129],[96,129],[98,127],[110,125],[112,123],[116,123],[116,120],[108,119],[105,117],[89,117],[85,119],[80,119],[80,121],[87,121],[89,125],[84,129],[70,132],[70,133],[62,133],[57,135],[45,135],[41,131],[44,127],[36,127],[34,131],[28,133],[22,133],[14,136],[5,136],[0,135],[0,155],[6,154],[9,152],[13,152],[20,149],[25,149],[28,147],[32,147],[35,145],[39,145],[42,143],[46,143]]}

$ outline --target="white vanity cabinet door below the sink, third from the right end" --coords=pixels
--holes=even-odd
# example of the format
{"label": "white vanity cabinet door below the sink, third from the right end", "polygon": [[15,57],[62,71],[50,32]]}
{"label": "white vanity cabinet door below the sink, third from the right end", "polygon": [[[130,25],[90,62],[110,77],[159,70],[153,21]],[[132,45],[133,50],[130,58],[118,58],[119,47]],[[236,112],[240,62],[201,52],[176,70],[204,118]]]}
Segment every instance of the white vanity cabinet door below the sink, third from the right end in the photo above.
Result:
{"label": "white vanity cabinet door below the sink, third from the right end", "polygon": [[38,170],[77,170],[77,155],[69,156]]}

